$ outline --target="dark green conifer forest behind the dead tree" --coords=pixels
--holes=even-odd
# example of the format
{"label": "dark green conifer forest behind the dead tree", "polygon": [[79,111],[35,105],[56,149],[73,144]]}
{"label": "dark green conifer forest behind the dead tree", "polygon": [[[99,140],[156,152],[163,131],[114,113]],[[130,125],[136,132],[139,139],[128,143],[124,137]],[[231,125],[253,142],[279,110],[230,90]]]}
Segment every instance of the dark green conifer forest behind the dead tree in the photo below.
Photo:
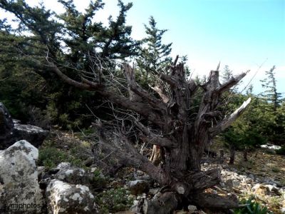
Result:
{"label": "dark green conifer forest behind the dead tree", "polygon": [[[24,2],[8,5],[1,1],[1,7],[14,13],[21,22],[16,29],[5,19],[0,22],[0,100],[14,118],[24,123],[79,131],[88,129],[98,116],[112,119],[108,104],[95,92],[81,91],[61,81],[41,63],[45,60],[46,50],[54,54],[66,73],[75,78],[78,76],[76,71],[90,71],[97,66],[88,62],[88,57],[92,56],[86,53],[90,53],[90,49],[95,49],[94,57],[103,59],[104,66],[113,68],[114,72],[120,73],[118,63],[132,61],[138,82],[152,91],[150,87],[155,86],[157,80],[149,73],[167,70],[172,61],[172,44],[162,44],[162,36],[167,30],[159,29],[153,17],[145,24],[145,39],[131,38],[132,27],[125,24],[125,17],[132,4],[119,1],[120,15],[110,17],[109,26],[105,27],[93,20],[95,11],[103,8],[101,1],[90,4],[84,14],[76,10],[72,1],[60,2],[66,13],[58,15],[46,11],[43,5],[31,10]],[[56,17],[58,22],[48,21],[49,17]],[[63,32],[66,34],[61,37]],[[45,45],[40,40],[49,42]],[[187,56],[180,57],[180,61],[187,63]],[[232,88],[224,96],[223,116],[252,98],[249,110],[223,134],[225,141],[235,148],[254,148],[264,143],[284,145],[285,103],[276,88],[274,68],[264,71],[266,79],[261,82],[262,93],[253,94],[253,86],[249,85]],[[232,77],[229,66],[220,70],[221,82]],[[187,67],[187,74],[191,76],[191,65]],[[197,76],[195,81],[204,83],[207,79]],[[199,103],[201,98],[202,93],[195,102]]]}

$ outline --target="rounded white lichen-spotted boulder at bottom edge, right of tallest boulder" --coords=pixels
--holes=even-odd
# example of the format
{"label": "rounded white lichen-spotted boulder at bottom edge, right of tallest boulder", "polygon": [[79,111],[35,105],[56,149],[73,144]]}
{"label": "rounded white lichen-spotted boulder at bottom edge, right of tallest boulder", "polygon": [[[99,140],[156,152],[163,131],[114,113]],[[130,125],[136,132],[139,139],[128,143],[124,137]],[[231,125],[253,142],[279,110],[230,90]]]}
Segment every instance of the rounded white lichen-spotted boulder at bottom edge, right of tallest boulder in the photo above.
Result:
{"label": "rounded white lichen-spotted boulder at bottom edge, right of tallest boulder", "polygon": [[94,196],[85,185],[73,185],[53,179],[46,188],[48,213],[98,213]]}

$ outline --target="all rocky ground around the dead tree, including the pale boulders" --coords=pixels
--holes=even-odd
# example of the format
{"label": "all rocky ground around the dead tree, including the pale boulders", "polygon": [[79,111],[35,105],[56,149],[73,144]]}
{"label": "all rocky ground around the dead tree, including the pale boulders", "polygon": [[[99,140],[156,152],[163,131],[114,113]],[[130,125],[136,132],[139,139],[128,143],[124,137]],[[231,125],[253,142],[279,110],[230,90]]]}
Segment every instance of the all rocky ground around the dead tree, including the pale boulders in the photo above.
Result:
{"label": "all rocky ground around the dead tree, including the pale boulders", "polygon": [[[120,168],[116,156],[110,158],[98,147],[93,129],[48,134],[13,121],[1,103],[0,122],[0,213],[138,213],[137,205],[145,198],[163,192],[145,173]],[[112,132],[105,137],[110,146],[120,143]],[[150,148],[136,147],[150,155]],[[222,182],[206,192],[237,195],[241,201],[250,198],[272,213],[285,213],[285,156],[257,148],[249,151],[247,161],[237,152],[234,165],[228,165],[229,151],[219,138],[207,149],[202,170],[220,168]],[[221,150],[224,158],[214,157]],[[257,207],[249,200],[246,203]],[[175,213],[223,212],[186,203]]]}

